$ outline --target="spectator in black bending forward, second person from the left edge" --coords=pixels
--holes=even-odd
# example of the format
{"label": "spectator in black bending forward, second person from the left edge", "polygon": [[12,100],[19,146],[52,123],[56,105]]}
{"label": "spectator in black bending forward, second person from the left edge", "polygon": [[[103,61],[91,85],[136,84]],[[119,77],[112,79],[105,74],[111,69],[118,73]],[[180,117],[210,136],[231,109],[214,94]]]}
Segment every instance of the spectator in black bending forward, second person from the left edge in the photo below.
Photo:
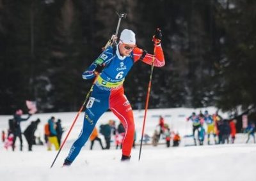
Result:
{"label": "spectator in black bending forward, second person from the left edge", "polygon": [[40,119],[36,119],[36,121],[32,121],[31,124],[25,129],[24,136],[28,141],[28,150],[32,151],[32,146],[35,145],[35,131],[37,129],[38,124],[40,123]]}

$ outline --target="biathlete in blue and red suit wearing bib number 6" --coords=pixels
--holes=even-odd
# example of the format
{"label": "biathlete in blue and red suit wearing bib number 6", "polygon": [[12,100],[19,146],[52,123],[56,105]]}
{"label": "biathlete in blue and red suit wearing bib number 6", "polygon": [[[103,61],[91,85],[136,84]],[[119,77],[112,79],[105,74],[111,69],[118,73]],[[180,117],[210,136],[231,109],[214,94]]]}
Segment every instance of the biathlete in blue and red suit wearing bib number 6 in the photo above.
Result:
{"label": "biathlete in blue and red suit wearing bib number 6", "polygon": [[160,43],[161,36],[161,30],[157,29],[152,39],[156,46],[154,57],[154,55],[147,54],[146,51],[136,47],[135,34],[129,29],[124,29],[119,43],[106,48],[84,71],[84,79],[91,79],[96,76],[97,81],[86,105],[81,134],[70,148],[63,165],[70,165],[76,159],[92,133],[97,120],[108,109],[120,119],[125,127],[121,161],[130,159],[134,139],[134,119],[131,105],[124,94],[123,83],[133,64],[139,60],[150,65],[154,60],[154,66],[164,66],[164,55]]}

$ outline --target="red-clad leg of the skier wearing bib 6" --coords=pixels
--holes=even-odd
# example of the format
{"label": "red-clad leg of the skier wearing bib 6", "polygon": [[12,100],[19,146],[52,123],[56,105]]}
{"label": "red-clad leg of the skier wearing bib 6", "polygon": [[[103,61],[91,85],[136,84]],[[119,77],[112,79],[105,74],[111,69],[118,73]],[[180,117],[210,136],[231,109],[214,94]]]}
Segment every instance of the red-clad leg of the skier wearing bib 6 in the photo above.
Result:
{"label": "red-clad leg of the skier wearing bib 6", "polygon": [[112,93],[109,99],[110,109],[116,117],[120,119],[125,128],[124,141],[122,143],[122,154],[129,157],[131,154],[135,129],[132,108],[124,95],[123,89]]}

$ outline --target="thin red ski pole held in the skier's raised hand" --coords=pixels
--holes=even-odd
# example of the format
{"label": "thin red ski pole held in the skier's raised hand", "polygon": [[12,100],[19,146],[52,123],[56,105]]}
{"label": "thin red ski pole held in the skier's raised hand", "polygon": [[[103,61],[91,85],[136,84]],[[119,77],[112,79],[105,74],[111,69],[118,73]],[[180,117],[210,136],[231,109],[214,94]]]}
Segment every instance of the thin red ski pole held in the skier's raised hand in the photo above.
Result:
{"label": "thin red ski pole held in the skier's raised hand", "polygon": [[139,161],[140,161],[140,156],[141,156],[142,140],[143,140],[143,134],[144,134],[144,129],[145,129],[145,122],[146,122],[146,117],[147,117],[148,101],[149,101],[149,95],[150,95],[150,90],[151,90],[151,82],[152,82],[152,75],[153,75],[153,69],[154,69],[154,61],[156,59],[155,58],[155,54],[156,54],[156,43],[154,45],[154,55],[153,55],[153,59],[152,59],[150,78],[149,78],[149,82],[148,82],[148,92],[147,92],[147,99],[146,99],[146,105],[145,105],[145,113],[144,113],[144,119],[143,119],[141,141],[140,141]]}

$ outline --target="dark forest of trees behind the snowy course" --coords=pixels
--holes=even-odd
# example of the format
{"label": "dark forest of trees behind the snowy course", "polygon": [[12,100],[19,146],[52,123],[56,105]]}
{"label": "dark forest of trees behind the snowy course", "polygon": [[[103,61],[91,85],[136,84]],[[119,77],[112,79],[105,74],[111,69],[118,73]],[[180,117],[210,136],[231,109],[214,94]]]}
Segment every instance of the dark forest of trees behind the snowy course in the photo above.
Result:
{"label": "dark forest of trees behind the snowy course", "polygon": [[[149,108],[255,106],[256,1],[0,0],[0,113],[26,99],[40,112],[77,111],[92,85],[81,73],[115,33],[116,11],[148,52],[162,29],[166,66],[154,69]],[[149,73],[138,62],[126,78],[134,108]]]}

